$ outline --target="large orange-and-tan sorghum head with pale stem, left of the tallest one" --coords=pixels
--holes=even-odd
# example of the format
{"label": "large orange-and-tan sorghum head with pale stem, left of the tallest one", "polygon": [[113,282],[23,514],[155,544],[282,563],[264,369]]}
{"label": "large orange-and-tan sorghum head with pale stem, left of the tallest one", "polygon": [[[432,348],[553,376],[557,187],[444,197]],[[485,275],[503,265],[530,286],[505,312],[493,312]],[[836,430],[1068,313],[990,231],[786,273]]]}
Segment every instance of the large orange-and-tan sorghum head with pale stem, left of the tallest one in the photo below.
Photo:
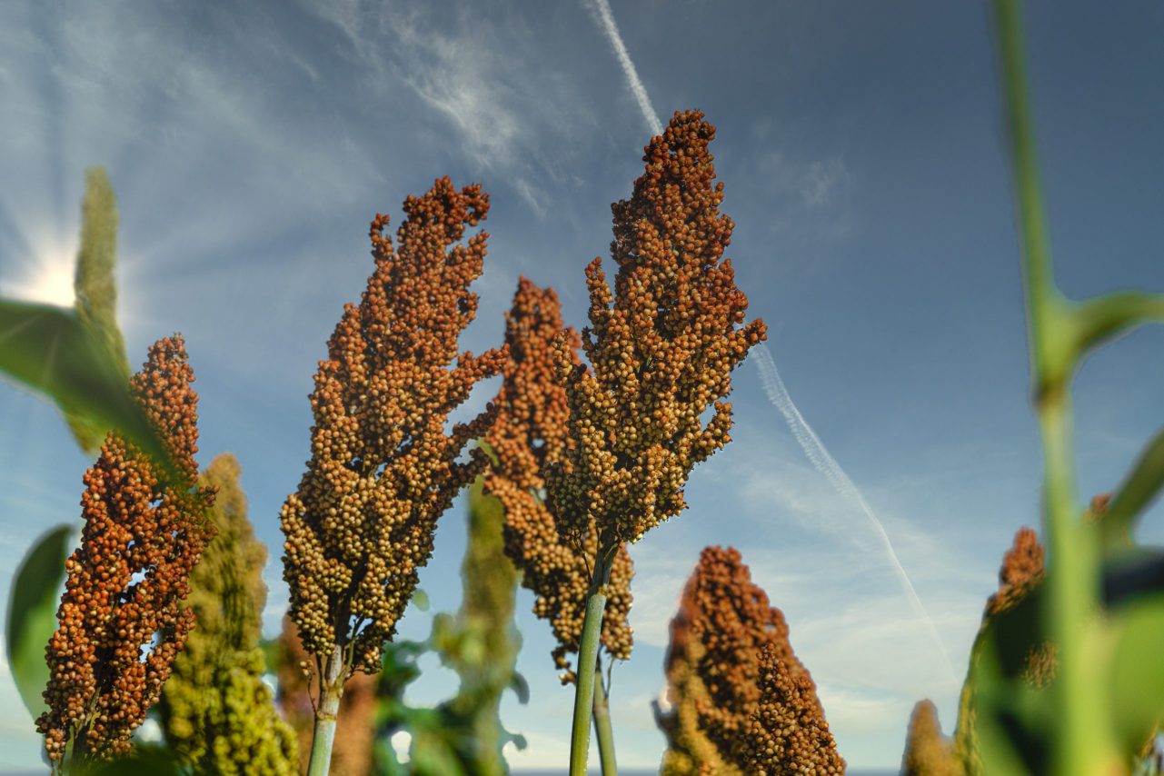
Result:
{"label": "large orange-and-tan sorghum head with pale stem, left of the tallest one", "polygon": [[457,355],[488,235],[460,240],[485,216],[488,195],[442,178],[404,209],[397,249],[383,235],[388,218],[371,222],[376,269],[319,364],[312,455],[282,513],[289,614],[318,678],[312,774],[327,771],[343,683],[379,670],[432,555],[436,519],[485,465],[477,451],[457,457],[489,428],[492,408],[450,434],[448,415],[504,361],[497,350]]}

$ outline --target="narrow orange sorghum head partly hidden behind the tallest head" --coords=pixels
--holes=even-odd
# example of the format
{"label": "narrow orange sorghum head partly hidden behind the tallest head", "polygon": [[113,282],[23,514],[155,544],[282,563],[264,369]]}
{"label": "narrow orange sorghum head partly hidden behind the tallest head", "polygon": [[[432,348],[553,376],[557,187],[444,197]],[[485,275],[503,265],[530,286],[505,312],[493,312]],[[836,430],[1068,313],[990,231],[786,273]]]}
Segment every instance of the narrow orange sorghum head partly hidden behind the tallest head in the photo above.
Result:
{"label": "narrow orange sorghum head partly hidden behind the tallest head", "polygon": [[[569,356],[577,363],[579,337],[573,329],[563,329],[558,294],[520,278],[513,307],[505,314],[509,358],[502,369],[505,382],[496,401],[497,421],[488,435],[496,462],[485,475],[485,487],[505,508],[505,553],[521,571],[521,584],[537,596],[533,611],[551,622],[558,639],[553,657],[563,681],[573,681],[567,655],[579,650],[598,534],[591,525],[581,541],[561,536],[541,497],[541,472],[560,462],[570,443],[566,432],[569,407],[553,350],[563,332]],[[624,546],[611,567],[602,621],[602,646],[619,660],[631,654],[627,615],[633,574]]]}

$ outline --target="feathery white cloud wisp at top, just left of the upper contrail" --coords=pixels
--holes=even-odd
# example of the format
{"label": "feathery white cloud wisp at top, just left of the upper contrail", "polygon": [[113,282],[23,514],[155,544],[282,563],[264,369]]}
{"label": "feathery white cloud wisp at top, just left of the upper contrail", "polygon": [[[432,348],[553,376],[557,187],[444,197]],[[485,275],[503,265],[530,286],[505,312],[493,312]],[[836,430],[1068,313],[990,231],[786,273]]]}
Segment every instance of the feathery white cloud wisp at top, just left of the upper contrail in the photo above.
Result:
{"label": "feathery white cloud wisp at top, just left of the upper contrail", "polygon": [[595,120],[573,81],[539,58],[521,14],[359,0],[305,6],[346,36],[369,94],[383,99],[385,85],[403,84],[456,133],[470,169],[501,173],[537,215],[548,212],[549,186],[568,178],[562,156]]}

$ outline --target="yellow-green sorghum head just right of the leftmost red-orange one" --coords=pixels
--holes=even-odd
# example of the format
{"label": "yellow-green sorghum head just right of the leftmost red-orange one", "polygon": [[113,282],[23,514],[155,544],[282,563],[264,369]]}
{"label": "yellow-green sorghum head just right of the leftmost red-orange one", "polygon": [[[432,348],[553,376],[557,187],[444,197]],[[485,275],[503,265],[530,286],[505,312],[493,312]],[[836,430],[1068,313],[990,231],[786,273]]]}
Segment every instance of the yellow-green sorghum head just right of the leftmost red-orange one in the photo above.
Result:
{"label": "yellow-green sorghum head just right of the leftmost red-orange one", "polygon": [[173,661],[158,711],[169,747],[198,773],[298,774],[294,731],[263,683],[258,642],[267,603],[267,548],[247,519],[239,461],[220,455],[200,483],[217,493],[218,535],[190,575],[198,628]]}

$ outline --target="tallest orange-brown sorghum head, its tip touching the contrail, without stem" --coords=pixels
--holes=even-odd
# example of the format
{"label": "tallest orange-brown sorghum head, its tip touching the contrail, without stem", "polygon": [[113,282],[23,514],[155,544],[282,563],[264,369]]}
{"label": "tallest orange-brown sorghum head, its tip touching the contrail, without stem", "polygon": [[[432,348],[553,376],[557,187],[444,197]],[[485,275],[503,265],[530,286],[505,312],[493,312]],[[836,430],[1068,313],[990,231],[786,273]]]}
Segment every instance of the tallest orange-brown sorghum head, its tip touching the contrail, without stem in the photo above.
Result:
{"label": "tallest orange-brown sorghum head, its tip touching the contrail, without stem", "polygon": [[744,325],[747,297],[723,257],[733,225],[719,213],[714,137],[690,111],[651,141],[631,199],[611,206],[613,293],[601,258],[585,271],[590,368],[556,344],[574,444],[547,489],[566,534],[594,522],[610,541],[637,541],[684,508],[691,468],[729,441],[731,370],[766,329]]}

